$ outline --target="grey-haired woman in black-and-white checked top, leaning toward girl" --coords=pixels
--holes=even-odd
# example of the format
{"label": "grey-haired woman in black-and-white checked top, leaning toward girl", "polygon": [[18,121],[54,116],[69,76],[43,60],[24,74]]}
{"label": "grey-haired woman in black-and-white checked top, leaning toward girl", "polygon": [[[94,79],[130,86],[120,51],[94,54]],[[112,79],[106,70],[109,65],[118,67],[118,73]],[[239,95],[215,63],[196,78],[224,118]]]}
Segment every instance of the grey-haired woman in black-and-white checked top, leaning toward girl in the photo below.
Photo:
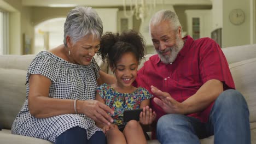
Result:
{"label": "grey-haired woman in black-and-white checked top, leaning toward girl", "polygon": [[76,7],[64,29],[64,44],[39,52],[30,64],[27,97],[12,133],[55,143],[105,143],[94,122],[113,122],[108,114],[113,110],[94,100],[97,85],[113,82],[93,58],[100,48],[102,21],[95,10]]}

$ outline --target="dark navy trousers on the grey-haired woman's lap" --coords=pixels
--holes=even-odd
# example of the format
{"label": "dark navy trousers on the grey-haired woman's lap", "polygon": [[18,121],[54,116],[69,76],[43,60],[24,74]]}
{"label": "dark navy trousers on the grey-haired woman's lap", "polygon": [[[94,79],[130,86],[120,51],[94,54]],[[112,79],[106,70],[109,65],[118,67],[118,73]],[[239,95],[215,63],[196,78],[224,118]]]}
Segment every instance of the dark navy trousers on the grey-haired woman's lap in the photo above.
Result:
{"label": "dark navy trousers on the grey-haired woman's lap", "polygon": [[94,135],[87,139],[86,129],[74,127],[68,129],[56,138],[56,144],[93,144],[106,143],[106,137],[103,131],[96,131]]}

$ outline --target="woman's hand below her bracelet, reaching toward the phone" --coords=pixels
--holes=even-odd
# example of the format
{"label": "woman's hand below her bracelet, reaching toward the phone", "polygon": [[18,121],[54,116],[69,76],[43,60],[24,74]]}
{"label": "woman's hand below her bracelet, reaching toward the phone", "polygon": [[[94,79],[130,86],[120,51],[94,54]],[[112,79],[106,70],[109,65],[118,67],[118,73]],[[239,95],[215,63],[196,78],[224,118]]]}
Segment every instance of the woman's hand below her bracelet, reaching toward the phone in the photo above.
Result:
{"label": "woman's hand below her bracelet, reaching toward the phone", "polygon": [[84,115],[94,119],[97,123],[110,125],[110,123],[114,122],[110,116],[114,114],[114,111],[98,100],[78,100],[77,111],[78,113],[84,113]]}

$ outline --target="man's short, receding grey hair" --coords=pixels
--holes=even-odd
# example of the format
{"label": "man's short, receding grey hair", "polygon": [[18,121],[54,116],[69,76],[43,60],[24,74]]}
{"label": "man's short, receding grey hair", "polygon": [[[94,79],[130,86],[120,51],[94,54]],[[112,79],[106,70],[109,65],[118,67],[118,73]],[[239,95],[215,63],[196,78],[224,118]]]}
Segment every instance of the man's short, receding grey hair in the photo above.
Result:
{"label": "man's short, receding grey hair", "polygon": [[151,26],[156,26],[162,21],[169,21],[170,25],[171,23],[174,25],[174,31],[177,31],[179,27],[181,26],[181,23],[179,22],[179,17],[171,10],[160,10],[156,12],[150,22],[149,22],[149,33],[151,31]]}

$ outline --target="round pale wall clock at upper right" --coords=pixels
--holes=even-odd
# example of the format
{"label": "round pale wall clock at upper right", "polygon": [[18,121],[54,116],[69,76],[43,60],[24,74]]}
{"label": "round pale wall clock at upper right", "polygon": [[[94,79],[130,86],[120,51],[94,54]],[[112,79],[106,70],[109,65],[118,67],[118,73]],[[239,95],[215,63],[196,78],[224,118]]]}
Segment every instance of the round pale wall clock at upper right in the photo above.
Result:
{"label": "round pale wall clock at upper right", "polygon": [[245,22],[245,13],[242,9],[232,9],[229,13],[229,20],[234,25],[241,25]]}

